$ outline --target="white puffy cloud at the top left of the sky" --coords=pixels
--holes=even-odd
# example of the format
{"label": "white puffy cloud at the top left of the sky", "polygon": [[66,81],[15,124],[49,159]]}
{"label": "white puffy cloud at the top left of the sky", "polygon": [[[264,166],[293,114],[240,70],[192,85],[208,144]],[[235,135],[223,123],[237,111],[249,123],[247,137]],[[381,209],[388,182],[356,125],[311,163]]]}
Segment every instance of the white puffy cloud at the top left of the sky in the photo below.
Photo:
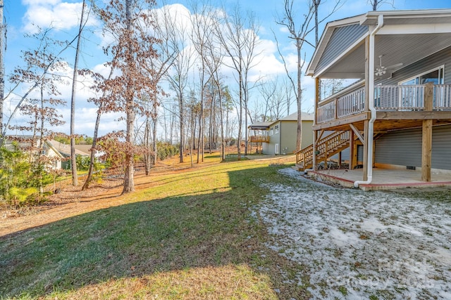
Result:
{"label": "white puffy cloud at the top left of the sky", "polygon": [[[27,11],[23,16],[23,30],[27,33],[36,33],[37,26],[41,28],[51,27],[56,30],[70,30],[80,25],[81,2],[24,0],[23,4],[27,6]],[[97,25],[97,20],[90,15],[87,25]]]}

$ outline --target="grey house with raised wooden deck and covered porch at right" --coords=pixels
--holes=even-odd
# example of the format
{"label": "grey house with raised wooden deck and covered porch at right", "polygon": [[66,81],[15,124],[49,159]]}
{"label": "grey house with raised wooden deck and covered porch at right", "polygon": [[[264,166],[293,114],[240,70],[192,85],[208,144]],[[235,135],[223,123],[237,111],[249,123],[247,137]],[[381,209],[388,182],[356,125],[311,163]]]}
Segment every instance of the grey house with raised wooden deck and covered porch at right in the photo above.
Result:
{"label": "grey house with raised wooden deck and covered porch at right", "polygon": [[[349,168],[451,174],[451,9],[371,11],[329,22],[307,75],[316,80],[314,143],[302,169],[349,151]],[[324,79],[357,79],[321,99]],[[326,136],[326,132],[332,131]],[[341,162],[340,158],[340,162]]]}

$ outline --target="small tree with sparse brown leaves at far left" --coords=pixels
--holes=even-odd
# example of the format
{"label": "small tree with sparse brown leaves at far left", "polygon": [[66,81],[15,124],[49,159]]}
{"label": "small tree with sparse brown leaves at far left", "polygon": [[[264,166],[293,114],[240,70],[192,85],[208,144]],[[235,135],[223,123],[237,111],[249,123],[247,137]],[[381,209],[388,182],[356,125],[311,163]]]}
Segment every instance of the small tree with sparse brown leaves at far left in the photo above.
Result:
{"label": "small tree with sparse brown leaves at far left", "polygon": [[[37,34],[32,35],[37,39],[39,47],[23,53],[26,66],[25,68],[16,68],[15,76],[11,77],[13,83],[20,81],[23,84],[37,86],[37,93],[32,97],[24,98],[21,100],[21,105],[18,105],[18,110],[24,117],[28,117],[29,121],[27,124],[8,126],[8,129],[32,133],[30,138],[27,137],[23,140],[29,144],[29,162],[32,164],[32,169],[27,171],[34,174],[32,176],[35,180],[33,185],[39,188],[39,195],[44,193],[44,169],[49,163],[47,157],[44,156],[44,141],[54,135],[49,127],[61,126],[65,123],[63,117],[56,111],[56,107],[65,104],[58,98],[61,93],[57,88],[58,83],[66,84],[59,74],[63,71],[65,64],[53,54],[53,47],[60,45],[61,42],[49,38],[49,31],[39,30]],[[41,76],[42,73],[47,73],[44,70],[49,70],[50,74]]]}

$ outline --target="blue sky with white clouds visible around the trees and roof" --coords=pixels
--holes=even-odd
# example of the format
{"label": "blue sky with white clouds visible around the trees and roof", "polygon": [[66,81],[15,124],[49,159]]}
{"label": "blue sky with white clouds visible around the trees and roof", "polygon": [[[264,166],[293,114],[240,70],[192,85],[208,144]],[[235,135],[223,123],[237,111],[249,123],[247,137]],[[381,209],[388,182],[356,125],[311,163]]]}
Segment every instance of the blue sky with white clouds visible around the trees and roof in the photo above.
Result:
{"label": "blue sky with white clouds visible around the trees and roof", "polygon": [[[324,0],[323,0],[324,1]],[[326,21],[338,20],[342,18],[359,15],[371,10],[371,6],[367,4],[366,0],[342,0],[344,4],[341,8],[333,13],[333,15]],[[297,15],[302,18],[302,14],[306,9],[306,0],[295,1],[295,10]],[[391,1],[388,1],[391,2]],[[4,55],[5,74],[8,77],[15,67],[23,67],[22,60],[23,51],[31,50],[35,44],[27,35],[33,34],[37,31],[37,26],[42,29],[52,28],[51,34],[56,39],[70,40],[75,37],[75,32],[78,28],[81,0],[4,0],[4,20],[6,22],[6,52]],[[192,7],[192,1],[173,1],[166,0],[167,4],[181,4],[182,6],[173,6],[178,9],[190,11],[188,8]],[[195,2],[194,2],[195,3]],[[200,1],[199,1],[200,3]],[[210,1],[212,6],[218,8],[225,8],[226,13],[235,7],[236,0]],[[285,70],[282,60],[278,55],[274,34],[278,37],[279,46],[283,51],[285,59],[289,63],[289,69],[295,71],[295,47],[292,45],[292,40],[288,39],[288,34],[283,27],[277,25],[275,20],[280,18],[283,10],[282,0],[245,0],[239,1],[242,11],[249,11],[254,13],[259,24],[259,39],[261,41],[259,56],[259,64],[254,67],[251,72],[251,78],[264,77],[271,79],[275,77],[284,77]],[[321,13],[325,14],[330,11],[330,7],[335,4],[335,0],[326,0],[323,2]],[[395,0],[395,9],[424,9],[424,8],[451,8],[450,0]],[[161,1],[158,1],[157,8],[161,7]],[[383,4],[379,10],[392,10],[393,6],[390,4]],[[320,13],[320,14],[321,14]],[[189,13],[188,13],[189,14]],[[299,20],[300,20],[299,18]],[[300,21],[299,21],[300,22]],[[104,70],[103,63],[106,57],[101,50],[101,46],[106,42],[106,37],[102,36],[99,29],[100,22],[96,18],[89,18],[87,28],[82,39],[82,53],[80,56],[80,67],[89,68],[91,70]],[[323,22],[320,27],[320,34],[326,22]],[[313,37],[311,37],[313,38]],[[307,67],[314,48],[311,46],[304,46]],[[61,70],[66,78],[72,77],[72,66],[74,60],[74,51],[65,51],[61,58],[67,62],[66,70]],[[227,74],[227,71],[224,71]],[[230,70],[229,70],[230,72]],[[230,76],[231,77],[231,76]],[[82,80],[82,79],[80,79]],[[313,86],[314,81],[309,77],[302,79],[304,93],[303,107],[304,111],[313,111]],[[96,118],[97,109],[94,104],[89,103],[87,99],[92,97],[92,91],[87,87],[89,84],[78,84],[77,98],[76,98],[76,114],[75,114],[75,132],[92,136],[94,131],[94,122]],[[11,91],[13,85],[6,79],[5,95]],[[68,103],[66,107],[60,107],[58,112],[63,115],[66,124],[60,126],[54,131],[61,131],[69,133],[70,121],[70,91],[71,86],[68,84],[61,84],[59,86],[61,91],[61,98]],[[27,91],[26,85],[18,86],[13,90],[13,93],[6,99],[4,104],[4,121],[8,120],[18,99]],[[32,96],[32,94],[31,94]],[[256,104],[261,101],[259,93],[251,93],[251,102]],[[295,106],[292,106],[292,111]],[[124,129],[124,122],[120,120],[121,115],[109,114],[104,115],[101,119],[101,126],[99,134],[104,135],[113,130]],[[16,116],[11,119],[11,124],[21,124],[23,117]],[[14,134],[14,132],[9,132]]]}

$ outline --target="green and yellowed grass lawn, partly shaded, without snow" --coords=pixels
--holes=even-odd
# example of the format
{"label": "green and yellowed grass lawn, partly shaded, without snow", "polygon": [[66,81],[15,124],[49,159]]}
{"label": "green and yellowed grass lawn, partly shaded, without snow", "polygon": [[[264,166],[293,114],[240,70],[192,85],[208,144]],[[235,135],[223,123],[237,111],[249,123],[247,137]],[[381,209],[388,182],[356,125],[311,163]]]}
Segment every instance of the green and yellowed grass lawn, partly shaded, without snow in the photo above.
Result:
{"label": "green and yellowed grass lawn, partly shaded, without snow", "polygon": [[0,236],[0,299],[307,299],[283,282],[302,266],[265,247],[252,214],[264,183],[291,180],[273,163],[214,154],[101,195],[106,207],[11,230]]}

